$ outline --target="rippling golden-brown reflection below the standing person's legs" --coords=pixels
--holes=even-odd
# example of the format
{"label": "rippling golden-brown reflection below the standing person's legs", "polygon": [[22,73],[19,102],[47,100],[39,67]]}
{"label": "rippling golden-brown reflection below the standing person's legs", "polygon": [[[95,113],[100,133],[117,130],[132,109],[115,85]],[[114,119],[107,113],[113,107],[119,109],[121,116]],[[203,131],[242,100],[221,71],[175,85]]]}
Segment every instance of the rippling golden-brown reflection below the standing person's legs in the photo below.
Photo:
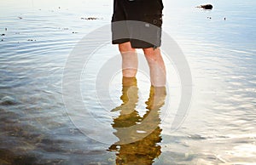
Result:
{"label": "rippling golden-brown reflection below the standing person's legs", "polygon": [[119,117],[113,119],[114,133],[119,141],[109,147],[116,152],[116,164],[152,164],[160,156],[160,107],[166,99],[165,87],[150,88],[148,111],[140,117],[136,105],[138,101],[137,80],[123,77],[123,104],[113,109]]}

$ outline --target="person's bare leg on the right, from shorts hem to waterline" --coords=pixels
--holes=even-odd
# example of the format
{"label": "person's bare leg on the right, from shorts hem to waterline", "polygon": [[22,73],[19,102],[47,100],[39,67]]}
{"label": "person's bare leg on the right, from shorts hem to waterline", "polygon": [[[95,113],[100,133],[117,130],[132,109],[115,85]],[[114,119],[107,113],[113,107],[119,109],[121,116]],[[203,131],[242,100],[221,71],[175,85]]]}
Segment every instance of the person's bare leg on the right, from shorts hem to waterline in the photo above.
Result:
{"label": "person's bare leg on the right, from shorts hem to waterline", "polygon": [[160,53],[160,48],[143,48],[150,69],[150,81],[154,87],[166,85],[166,65]]}

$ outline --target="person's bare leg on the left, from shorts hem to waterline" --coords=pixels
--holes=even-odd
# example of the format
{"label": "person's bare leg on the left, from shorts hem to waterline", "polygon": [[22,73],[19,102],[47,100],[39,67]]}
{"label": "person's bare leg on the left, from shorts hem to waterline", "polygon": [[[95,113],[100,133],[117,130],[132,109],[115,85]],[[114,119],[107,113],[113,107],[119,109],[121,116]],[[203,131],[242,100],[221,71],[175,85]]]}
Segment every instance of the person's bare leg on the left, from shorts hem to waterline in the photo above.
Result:
{"label": "person's bare leg on the left, from shorts hem to waterline", "polygon": [[119,44],[119,51],[122,54],[123,77],[136,77],[137,74],[137,52],[131,48],[131,43]]}

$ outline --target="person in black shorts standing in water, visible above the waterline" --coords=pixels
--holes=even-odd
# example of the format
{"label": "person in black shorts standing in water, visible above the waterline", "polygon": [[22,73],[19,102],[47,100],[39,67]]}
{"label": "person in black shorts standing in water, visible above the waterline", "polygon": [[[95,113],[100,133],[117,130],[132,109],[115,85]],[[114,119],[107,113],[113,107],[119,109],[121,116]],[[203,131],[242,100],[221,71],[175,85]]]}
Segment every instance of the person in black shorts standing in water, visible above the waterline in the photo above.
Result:
{"label": "person in black shorts standing in water, visible above the waterline", "polygon": [[143,48],[151,85],[166,85],[166,66],[160,53],[163,8],[162,0],[114,0],[112,43],[119,45],[123,77],[136,77],[136,48]]}

